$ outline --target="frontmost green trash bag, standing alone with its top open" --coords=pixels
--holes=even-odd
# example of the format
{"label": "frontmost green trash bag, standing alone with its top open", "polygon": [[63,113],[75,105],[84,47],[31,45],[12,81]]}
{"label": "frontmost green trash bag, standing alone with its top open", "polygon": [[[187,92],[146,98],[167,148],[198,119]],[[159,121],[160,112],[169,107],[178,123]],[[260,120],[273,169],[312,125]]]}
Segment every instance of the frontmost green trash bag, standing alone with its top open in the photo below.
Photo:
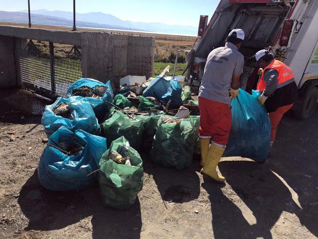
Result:
{"label": "frontmost green trash bag, standing alone with its top open", "polygon": [[[109,155],[118,146],[124,146],[129,151],[131,165],[118,164]],[[144,169],[143,160],[124,136],[114,140],[110,148],[102,155],[98,171],[99,191],[104,206],[117,209],[131,207],[137,194],[143,189]]]}

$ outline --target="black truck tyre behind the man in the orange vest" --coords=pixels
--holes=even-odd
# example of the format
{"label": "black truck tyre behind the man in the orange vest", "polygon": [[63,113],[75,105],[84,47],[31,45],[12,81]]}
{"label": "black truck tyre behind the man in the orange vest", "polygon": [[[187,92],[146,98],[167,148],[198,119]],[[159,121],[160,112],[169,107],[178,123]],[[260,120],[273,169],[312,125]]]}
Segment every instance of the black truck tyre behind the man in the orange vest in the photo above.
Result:
{"label": "black truck tyre behind the man in the orange vest", "polygon": [[301,111],[293,111],[293,116],[297,119],[309,119],[317,106],[318,89],[313,87],[310,89],[304,98],[304,103]]}

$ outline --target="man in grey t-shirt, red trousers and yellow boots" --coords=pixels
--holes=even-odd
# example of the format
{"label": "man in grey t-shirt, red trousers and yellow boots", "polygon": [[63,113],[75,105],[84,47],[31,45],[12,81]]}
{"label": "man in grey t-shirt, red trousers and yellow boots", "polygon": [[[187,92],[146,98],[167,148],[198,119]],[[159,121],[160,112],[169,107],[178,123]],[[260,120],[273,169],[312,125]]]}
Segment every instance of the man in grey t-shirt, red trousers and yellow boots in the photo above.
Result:
{"label": "man in grey t-shirt, red trousers and yellow boots", "polygon": [[216,168],[228,143],[232,125],[230,95],[235,98],[239,94],[244,65],[239,48],[243,40],[244,31],[234,29],[229,33],[225,46],[210,52],[199,88],[201,173],[218,182],[225,181]]}

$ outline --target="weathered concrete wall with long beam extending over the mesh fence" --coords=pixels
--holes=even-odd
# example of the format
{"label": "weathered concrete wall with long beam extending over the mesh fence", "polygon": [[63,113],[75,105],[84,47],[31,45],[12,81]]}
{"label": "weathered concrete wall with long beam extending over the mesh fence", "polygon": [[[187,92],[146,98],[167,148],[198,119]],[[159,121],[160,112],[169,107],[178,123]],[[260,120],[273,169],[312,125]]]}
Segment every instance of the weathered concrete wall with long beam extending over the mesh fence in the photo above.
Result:
{"label": "weathered concrete wall with long beam extending over the mesh fence", "polygon": [[[111,80],[116,86],[119,85],[119,79],[126,75],[149,78],[153,74],[154,37],[13,26],[0,26],[0,36],[3,37],[3,41],[6,39],[2,45],[2,50],[5,50],[6,54],[14,54],[13,46],[9,43],[13,37],[22,48],[25,47],[25,39],[80,46],[82,76],[102,82]],[[4,55],[0,54],[0,60],[3,60],[2,56]],[[14,68],[12,61],[7,64],[13,64],[10,68]],[[1,64],[0,68],[2,68]],[[15,73],[10,73],[10,75],[12,78]],[[2,81],[0,81],[0,87],[2,85]]]}

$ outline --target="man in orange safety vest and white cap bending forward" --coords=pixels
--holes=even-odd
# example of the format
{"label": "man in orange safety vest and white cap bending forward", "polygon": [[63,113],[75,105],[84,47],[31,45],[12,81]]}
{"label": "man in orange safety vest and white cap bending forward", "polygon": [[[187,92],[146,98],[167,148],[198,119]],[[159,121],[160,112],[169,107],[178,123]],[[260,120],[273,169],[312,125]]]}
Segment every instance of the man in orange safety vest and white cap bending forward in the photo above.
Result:
{"label": "man in orange safety vest and white cap bending forward", "polygon": [[[256,67],[260,68],[257,90],[260,104],[265,105],[271,121],[271,146],[274,143],[277,126],[283,115],[297,101],[297,85],[292,69],[281,61],[275,60],[267,50],[255,54]],[[264,69],[264,70],[262,70]]]}

